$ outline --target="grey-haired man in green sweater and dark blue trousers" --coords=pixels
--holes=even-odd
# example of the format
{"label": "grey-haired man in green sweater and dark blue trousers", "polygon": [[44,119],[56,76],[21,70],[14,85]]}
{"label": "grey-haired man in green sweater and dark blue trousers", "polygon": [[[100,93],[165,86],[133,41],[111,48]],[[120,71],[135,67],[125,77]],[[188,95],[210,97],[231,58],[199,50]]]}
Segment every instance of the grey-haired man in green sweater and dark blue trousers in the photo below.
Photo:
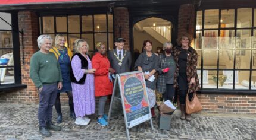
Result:
{"label": "grey-haired man in green sweater and dark blue trousers", "polygon": [[52,106],[57,97],[57,91],[62,88],[60,65],[49,52],[52,46],[52,38],[49,35],[38,37],[39,51],[30,59],[30,78],[38,88],[39,93],[39,132],[43,136],[51,136],[48,129],[60,131],[60,126],[52,124]]}

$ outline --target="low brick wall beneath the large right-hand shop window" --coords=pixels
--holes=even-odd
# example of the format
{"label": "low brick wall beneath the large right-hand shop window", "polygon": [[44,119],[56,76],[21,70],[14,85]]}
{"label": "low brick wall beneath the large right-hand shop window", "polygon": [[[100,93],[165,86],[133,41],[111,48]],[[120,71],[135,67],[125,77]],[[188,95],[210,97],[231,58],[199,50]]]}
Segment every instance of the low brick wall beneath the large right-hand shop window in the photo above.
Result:
{"label": "low brick wall beneath the large right-hand shop window", "polygon": [[204,111],[221,114],[256,114],[256,96],[197,94]]}

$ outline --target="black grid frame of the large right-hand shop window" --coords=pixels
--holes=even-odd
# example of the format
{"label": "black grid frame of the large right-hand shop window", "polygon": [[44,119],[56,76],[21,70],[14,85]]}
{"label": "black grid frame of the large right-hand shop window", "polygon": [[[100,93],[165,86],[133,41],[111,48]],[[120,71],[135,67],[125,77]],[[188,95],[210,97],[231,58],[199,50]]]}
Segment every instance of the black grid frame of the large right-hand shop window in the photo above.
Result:
{"label": "black grid frame of the large right-hand shop window", "polygon": [[[205,9],[196,9],[195,10],[195,33],[194,33],[194,36],[195,36],[195,39],[196,39],[196,32],[197,31],[201,31],[201,37],[202,37],[202,39],[203,39],[203,37],[204,37],[204,33],[205,33],[205,31],[208,31],[208,30],[218,30],[218,40],[219,40],[219,37],[220,37],[220,31],[221,30],[234,30],[235,31],[235,35],[234,35],[234,38],[236,39],[236,35],[237,35],[237,30],[244,30],[244,29],[249,29],[249,30],[251,30],[251,34],[250,34],[250,37],[251,37],[251,41],[253,40],[253,34],[254,34],[254,30],[256,29],[256,27],[254,27],[254,14],[255,14],[255,12],[254,11],[256,11],[256,7],[245,7],[245,8],[251,8],[252,9],[252,21],[251,21],[251,24],[252,24],[252,26],[251,27],[246,27],[246,28],[237,28],[236,26],[237,26],[237,15],[238,15],[238,9],[241,9],[241,7],[239,7],[239,8],[213,8],[213,9],[218,9],[218,28],[210,28],[210,29],[205,29],[204,28],[204,18],[205,18],[205,10],[210,10],[210,9],[208,9],[208,8],[205,8]],[[212,9],[212,8],[211,8]],[[235,13],[234,13],[234,27],[229,27],[229,28],[223,28],[223,27],[221,27],[221,22],[220,22],[220,19],[221,19],[221,10],[235,10]],[[196,28],[196,24],[197,24],[197,12],[198,11],[202,11],[202,27],[201,28]],[[217,47],[217,49],[213,49],[214,51],[217,51],[217,68],[204,68],[204,56],[203,56],[203,53],[204,53],[204,50],[205,50],[205,48],[204,48],[204,46],[202,46],[202,42],[203,42],[204,40],[202,40],[201,41],[201,48],[199,48],[199,49],[197,49],[196,48],[196,46],[195,46],[195,49],[196,49],[196,51],[198,51],[198,52],[201,52],[201,68],[197,68],[197,70],[199,70],[199,71],[201,71],[201,79],[199,79],[200,81],[203,81],[203,77],[202,77],[202,75],[203,75],[203,71],[204,70],[214,70],[214,71],[217,71],[217,85],[216,85],[216,88],[204,88],[204,84],[203,84],[203,82],[201,82],[200,83],[200,85],[201,85],[201,90],[199,91],[199,93],[207,93],[207,94],[216,94],[216,93],[220,93],[220,94],[241,94],[241,95],[246,95],[246,94],[248,94],[248,95],[256,95],[256,90],[255,89],[251,89],[251,79],[252,79],[252,71],[256,71],[256,68],[252,68],[252,57],[253,57],[253,55],[252,55],[252,52],[253,52],[253,50],[255,50],[256,51],[256,48],[254,48],[253,46],[251,47],[251,48],[247,48],[247,49],[245,49],[245,50],[250,50],[251,51],[251,56],[250,56],[250,63],[249,63],[249,68],[246,68],[246,69],[237,69],[236,67],[235,67],[235,65],[236,65],[236,51],[237,51],[237,49],[236,49],[236,46],[234,46],[234,48],[233,49],[220,49],[219,47]],[[194,42],[194,44],[196,43],[196,41]],[[253,43],[251,43],[251,44],[253,44]],[[219,44],[218,44],[218,46],[219,46]],[[206,49],[206,50],[211,50],[211,49]],[[220,69],[219,68],[219,66],[220,66],[220,51],[221,50],[233,50],[234,52],[235,52],[235,54],[234,54],[234,60],[233,60],[233,69],[230,69],[230,68],[227,68],[227,69]],[[230,89],[224,89],[224,88],[219,88],[219,86],[218,86],[218,78],[219,78],[219,72],[220,71],[233,71],[233,88],[230,88]],[[237,89],[237,88],[235,88],[235,72],[236,71],[249,71],[249,87],[248,87],[248,90],[246,89]]]}

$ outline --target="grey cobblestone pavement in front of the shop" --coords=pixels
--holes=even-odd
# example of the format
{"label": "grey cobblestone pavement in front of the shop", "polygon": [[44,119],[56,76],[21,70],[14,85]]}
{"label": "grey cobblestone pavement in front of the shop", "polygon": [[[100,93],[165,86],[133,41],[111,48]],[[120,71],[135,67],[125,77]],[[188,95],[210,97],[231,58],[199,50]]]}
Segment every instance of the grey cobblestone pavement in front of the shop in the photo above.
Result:
{"label": "grey cobblestone pavement in front of the shop", "polygon": [[[0,139],[126,139],[123,116],[110,121],[108,129],[96,123],[96,116],[87,126],[78,126],[69,117],[69,109],[62,106],[62,131],[51,131],[45,138],[38,132],[37,104],[0,104]],[[170,131],[159,130],[154,119],[154,130],[149,122],[130,129],[131,139],[256,139],[255,116],[216,116],[193,114],[191,122],[179,119],[179,110],[172,116]],[[56,120],[54,109],[53,122]]]}

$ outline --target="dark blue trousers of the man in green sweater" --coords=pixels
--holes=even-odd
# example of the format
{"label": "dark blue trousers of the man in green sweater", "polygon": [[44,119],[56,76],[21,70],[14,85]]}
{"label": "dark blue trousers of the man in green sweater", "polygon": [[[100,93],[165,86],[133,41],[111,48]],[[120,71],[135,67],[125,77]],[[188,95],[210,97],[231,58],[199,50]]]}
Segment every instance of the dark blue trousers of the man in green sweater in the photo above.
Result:
{"label": "dark blue trousers of the man in green sweater", "polygon": [[54,106],[58,92],[57,84],[43,85],[39,93],[38,120],[39,125],[45,127],[45,121],[52,121],[52,106]]}

